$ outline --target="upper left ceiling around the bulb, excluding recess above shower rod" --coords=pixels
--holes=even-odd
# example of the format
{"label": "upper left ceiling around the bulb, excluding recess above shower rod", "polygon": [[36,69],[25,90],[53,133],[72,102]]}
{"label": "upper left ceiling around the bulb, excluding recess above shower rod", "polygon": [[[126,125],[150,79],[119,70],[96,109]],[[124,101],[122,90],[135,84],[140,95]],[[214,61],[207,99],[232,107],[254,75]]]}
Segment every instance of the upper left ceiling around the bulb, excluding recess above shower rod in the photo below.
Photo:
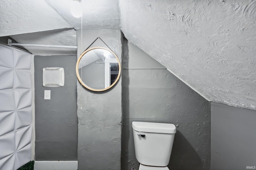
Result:
{"label": "upper left ceiling around the bulb, excluding recess above shower rod", "polygon": [[0,0],[0,37],[62,28],[120,28],[118,0],[82,0],[82,18],[72,16],[72,2],[73,0]]}

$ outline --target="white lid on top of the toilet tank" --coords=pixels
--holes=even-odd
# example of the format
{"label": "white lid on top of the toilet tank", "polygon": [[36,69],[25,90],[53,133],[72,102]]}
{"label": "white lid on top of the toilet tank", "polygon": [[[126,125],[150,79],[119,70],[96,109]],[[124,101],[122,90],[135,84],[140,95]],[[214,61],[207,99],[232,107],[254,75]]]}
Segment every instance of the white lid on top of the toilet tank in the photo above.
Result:
{"label": "white lid on top of the toilet tank", "polygon": [[176,133],[176,126],[170,123],[133,121],[132,128],[139,132]]}

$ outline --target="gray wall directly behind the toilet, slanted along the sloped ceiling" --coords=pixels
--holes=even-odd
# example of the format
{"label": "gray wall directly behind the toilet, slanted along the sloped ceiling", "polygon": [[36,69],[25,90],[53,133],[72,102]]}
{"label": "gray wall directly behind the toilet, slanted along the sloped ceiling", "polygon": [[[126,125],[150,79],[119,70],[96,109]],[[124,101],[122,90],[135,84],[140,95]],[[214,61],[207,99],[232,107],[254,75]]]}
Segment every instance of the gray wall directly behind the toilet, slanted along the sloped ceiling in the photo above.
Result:
{"label": "gray wall directly behind the toilet, slanted along the sloped ceiling", "polygon": [[132,121],[178,125],[170,170],[210,169],[210,103],[132,43],[124,43],[122,170],[138,169]]}

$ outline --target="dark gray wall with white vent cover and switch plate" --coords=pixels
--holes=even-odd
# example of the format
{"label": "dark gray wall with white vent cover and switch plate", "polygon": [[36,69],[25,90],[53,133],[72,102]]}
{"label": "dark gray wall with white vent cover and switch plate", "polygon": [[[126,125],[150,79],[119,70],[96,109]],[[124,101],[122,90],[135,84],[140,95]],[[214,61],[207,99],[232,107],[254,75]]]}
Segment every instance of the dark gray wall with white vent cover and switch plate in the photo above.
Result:
{"label": "dark gray wall with white vent cover and switch plate", "polygon": [[[35,56],[36,160],[77,160],[76,56]],[[43,87],[46,67],[64,68],[63,87]],[[51,100],[44,100],[51,90]]]}

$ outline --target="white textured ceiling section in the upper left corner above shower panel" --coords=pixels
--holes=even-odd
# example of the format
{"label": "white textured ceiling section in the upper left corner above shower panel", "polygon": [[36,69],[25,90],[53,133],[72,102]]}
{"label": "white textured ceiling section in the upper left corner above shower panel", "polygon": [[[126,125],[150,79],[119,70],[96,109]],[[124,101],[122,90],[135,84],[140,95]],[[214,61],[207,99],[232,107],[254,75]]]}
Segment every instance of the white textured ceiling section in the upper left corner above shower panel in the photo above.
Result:
{"label": "white textured ceiling section in the upper left corner above shower panel", "polygon": [[0,37],[71,27],[44,0],[0,0]]}

